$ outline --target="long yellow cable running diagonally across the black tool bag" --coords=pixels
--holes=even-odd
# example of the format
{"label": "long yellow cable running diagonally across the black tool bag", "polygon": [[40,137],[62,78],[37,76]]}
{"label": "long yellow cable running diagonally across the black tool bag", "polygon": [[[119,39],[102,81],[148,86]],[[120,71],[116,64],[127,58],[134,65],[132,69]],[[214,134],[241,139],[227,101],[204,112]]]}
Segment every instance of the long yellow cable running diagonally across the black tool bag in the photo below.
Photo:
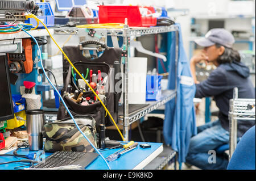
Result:
{"label": "long yellow cable running diagonally across the black tool bag", "polygon": [[[27,15],[27,16],[28,16],[28,15]],[[27,17],[27,16],[26,16],[26,17]],[[114,121],[113,117],[110,115],[110,112],[109,112],[109,110],[106,108],[105,104],[102,102],[102,100],[100,99],[100,97],[96,94],[96,92],[92,89],[92,87],[89,85],[89,83],[88,83],[87,81],[85,81],[85,78],[82,77],[82,75],[80,74],[80,72],[75,68],[75,66],[74,66],[74,65],[72,64],[72,62],[69,60],[67,54],[65,54],[65,52],[63,52],[63,50],[62,50],[62,49],[60,48],[60,46],[57,44],[57,42],[55,41],[55,39],[53,39],[53,37],[52,37],[51,33],[49,32],[47,26],[46,26],[40,19],[38,19],[35,15],[29,14],[29,16],[32,17],[32,18],[34,18],[34,19],[36,19],[36,20],[38,20],[40,23],[43,24],[43,26],[44,26],[44,28],[46,28],[46,30],[47,30],[49,36],[51,37],[51,39],[53,40],[53,42],[56,44],[56,46],[60,49],[61,53],[63,53],[64,57],[68,60],[69,64],[73,67],[73,69],[76,71],[76,73],[79,74],[79,76],[84,80],[84,82],[86,83],[86,85],[88,85],[88,87],[90,88],[90,90],[92,90],[93,94],[97,97],[97,99],[100,100],[100,102],[101,102],[102,106],[104,107],[105,111],[108,113],[110,119],[113,121],[113,124],[114,124],[115,127],[117,128],[118,133],[119,133],[120,136],[122,137],[122,140],[125,141],[125,138],[123,138],[123,135],[122,135],[121,131],[120,131],[119,128],[117,127],[117,124],[115,124],[115,121]]]}

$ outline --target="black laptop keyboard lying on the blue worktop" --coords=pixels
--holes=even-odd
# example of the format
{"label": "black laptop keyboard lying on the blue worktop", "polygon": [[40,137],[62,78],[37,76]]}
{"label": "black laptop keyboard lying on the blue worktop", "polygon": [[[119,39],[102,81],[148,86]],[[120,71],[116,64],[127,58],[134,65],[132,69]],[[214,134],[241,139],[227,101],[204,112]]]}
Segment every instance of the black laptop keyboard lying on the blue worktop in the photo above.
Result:
{"label": "black laptop keyboard lying on the blue worktop", "polygon": [[82,168],[85,168],[97,157],[98,153],[94,152],[56,151],[46,157],[44,163],[38,163],[32,166],[32,168],[44,169],[67,165],[80,165]]}

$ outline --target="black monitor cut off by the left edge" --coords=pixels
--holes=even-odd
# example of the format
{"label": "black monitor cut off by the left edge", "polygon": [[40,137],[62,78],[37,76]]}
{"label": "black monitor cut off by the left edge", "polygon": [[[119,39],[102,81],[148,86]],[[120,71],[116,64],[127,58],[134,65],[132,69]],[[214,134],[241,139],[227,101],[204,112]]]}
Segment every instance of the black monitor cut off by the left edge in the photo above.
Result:
{"label": "black monitor cut off by the left edge", "polygon": [[14,118],[6,53],[0,53],[0,121]]}

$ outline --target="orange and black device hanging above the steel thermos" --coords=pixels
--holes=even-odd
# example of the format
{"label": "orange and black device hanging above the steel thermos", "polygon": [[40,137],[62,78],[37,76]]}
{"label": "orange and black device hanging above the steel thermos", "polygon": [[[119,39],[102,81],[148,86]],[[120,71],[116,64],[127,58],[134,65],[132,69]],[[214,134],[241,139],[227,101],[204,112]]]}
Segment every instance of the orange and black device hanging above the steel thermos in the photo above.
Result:
{"label": "orange and black device hanging above the steel thermos", "polygon": [[11,73],[31,73],[33,69],[32,44],[30,39],[22,39],[23,53],[7,53]]}

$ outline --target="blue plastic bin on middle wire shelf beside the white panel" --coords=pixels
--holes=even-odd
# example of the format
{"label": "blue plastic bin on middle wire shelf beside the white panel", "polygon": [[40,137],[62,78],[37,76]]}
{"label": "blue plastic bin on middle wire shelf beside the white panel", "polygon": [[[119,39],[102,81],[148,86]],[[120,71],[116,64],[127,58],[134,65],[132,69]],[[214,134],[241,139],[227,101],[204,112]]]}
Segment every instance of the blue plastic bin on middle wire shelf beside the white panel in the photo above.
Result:
{"label": "blue plastic bin on middle wire shelf beside the white panel", "polygon": [[162,75],[147,74],[146,100],[159,100],[162,96],[161,80]]}

